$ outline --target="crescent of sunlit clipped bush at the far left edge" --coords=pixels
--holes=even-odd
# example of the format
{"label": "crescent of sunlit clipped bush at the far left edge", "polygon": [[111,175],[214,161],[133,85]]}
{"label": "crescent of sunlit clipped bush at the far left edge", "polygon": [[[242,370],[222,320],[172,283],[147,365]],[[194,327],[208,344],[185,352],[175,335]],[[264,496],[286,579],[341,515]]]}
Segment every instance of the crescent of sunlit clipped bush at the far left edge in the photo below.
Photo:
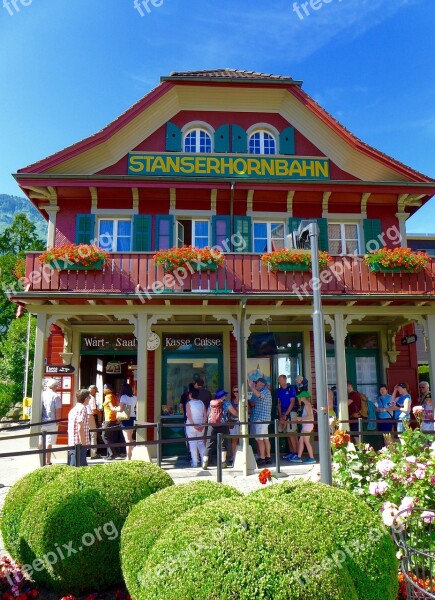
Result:
{"label": "crescent of sunlit clipped bush at the far left edge", "polygon": [[3,505],[1,532],[6,550],[16,561],[23,562],[20,555],[20,525],[25,508],[42,487],[71,468],[53,465],[37,469],[19,479],[9,490]]}

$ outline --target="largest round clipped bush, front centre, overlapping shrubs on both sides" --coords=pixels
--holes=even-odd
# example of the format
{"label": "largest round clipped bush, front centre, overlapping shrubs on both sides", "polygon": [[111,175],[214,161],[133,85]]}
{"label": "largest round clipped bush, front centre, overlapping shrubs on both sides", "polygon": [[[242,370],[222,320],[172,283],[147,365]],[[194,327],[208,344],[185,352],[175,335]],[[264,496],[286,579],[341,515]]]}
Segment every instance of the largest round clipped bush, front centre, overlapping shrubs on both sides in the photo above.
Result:
{"label": "largest round clipped bush, front centre, overlapping shrubs on both sides", "polygon": [[[360,600],[346,564],[330,558],[332,536],[298,517],[273,496],[194,508],[152,546],[133,598]],[[314,565],[316,577],[303,578]]]}

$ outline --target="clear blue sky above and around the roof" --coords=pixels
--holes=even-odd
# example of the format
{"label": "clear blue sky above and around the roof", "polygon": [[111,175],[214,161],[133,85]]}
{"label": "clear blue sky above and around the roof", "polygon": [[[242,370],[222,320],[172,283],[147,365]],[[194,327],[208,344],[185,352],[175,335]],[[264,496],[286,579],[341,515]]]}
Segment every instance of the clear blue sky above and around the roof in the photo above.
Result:
{"label": "clear blue sky above and around the roof", "polygon": [[[222,67],[303,80],[353,133],[435,178],[434,0],[315,0],[302,19],[293,0],[148,0],[143,16],[133,0],[4,1],[0,193],[19,194],[11,172],[101,129],[160,75]],[[432,200],[408,231],[434,217]]]}

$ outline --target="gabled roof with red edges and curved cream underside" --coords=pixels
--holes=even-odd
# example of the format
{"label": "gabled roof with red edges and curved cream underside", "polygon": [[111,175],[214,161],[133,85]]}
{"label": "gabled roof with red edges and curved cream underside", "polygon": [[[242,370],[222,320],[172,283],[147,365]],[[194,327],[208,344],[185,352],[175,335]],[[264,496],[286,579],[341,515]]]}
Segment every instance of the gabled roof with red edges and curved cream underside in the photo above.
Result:
{"label": "gabled roof with red edges and curved cream underside", "polygon": [[[186,82],[185,85],[183,82]],[[215,92],[216,88],[202,85],[209,82],[218,84],[221,88],[219,94]],[[267,85],[270,83],[274,85]],[[197,91],[189,93],[190,86],[200,87],[201,94]],[[125,155],[136,147],[144,137],[180,110],[192,110],[194,106],[197,110],[231,111],[237,102],[250,111],[257,107],[262,112],[279,112],[325,156],[358,179],[434,182],[361,141],[302,90],[301,82],[288,76],[237,69],[180,71],[162,77],[156,88],[101,131],[20,169],[16,178],[19,181],[21,174],[69,173],[80,176],[80,173],[96,173],[114,164],[122,153]],[[88,169],[86,172],[80,170],[84,164]]]}

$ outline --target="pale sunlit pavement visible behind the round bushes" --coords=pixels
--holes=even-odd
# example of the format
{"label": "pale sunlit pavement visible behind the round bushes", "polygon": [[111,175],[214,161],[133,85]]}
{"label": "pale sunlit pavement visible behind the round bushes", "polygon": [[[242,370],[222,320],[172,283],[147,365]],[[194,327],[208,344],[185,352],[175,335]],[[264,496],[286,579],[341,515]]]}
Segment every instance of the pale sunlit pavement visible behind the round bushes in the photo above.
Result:
{"label": "pale sunlit pavement visible behind the round bushes", "polygon": [[[28,439],[10,439],[13,435],[18,435],[22,431],[18,432],[6,432],[0,434],[0,454],[6,452],[19,452],[28,450]],[[66,463],[66,452],[56,452],[52,455],[53,464]],[[101,464],[102,460],[91,461],[90,465]],[[30,473],[34,469],[39,467],[39,456],[17,456],[10,458],[0,458],[0,510],[3,506],[4,499],[11,486],[18,481],[21,477]],[[197,479],[208,479],[210,481],[216,481],[216,467],[210,467],[209,470],[203,471],[202,469],[192,469],[185,458],[167,458],[163,460],[162,468],[167,471],[176,484],[187,483]],[[274,464],[271,465],[272,473],[274,471]],[[288,478],[298,478],[302,476],[309,476],[311,471],[318,469],[317,465],[297,465],[283,461],[281,471],[285,475],[283,479],[278,481],[285,481]],[[253,490],[261,488],[261,484],[258,481],[259,470],[248,477],[243,477],[240,471],[234,469],[225,469],[223,473],[223,482],[234,486],[241,492],[248,494]],[[3,543],[0,539],[0,554],[3,551]]]}

